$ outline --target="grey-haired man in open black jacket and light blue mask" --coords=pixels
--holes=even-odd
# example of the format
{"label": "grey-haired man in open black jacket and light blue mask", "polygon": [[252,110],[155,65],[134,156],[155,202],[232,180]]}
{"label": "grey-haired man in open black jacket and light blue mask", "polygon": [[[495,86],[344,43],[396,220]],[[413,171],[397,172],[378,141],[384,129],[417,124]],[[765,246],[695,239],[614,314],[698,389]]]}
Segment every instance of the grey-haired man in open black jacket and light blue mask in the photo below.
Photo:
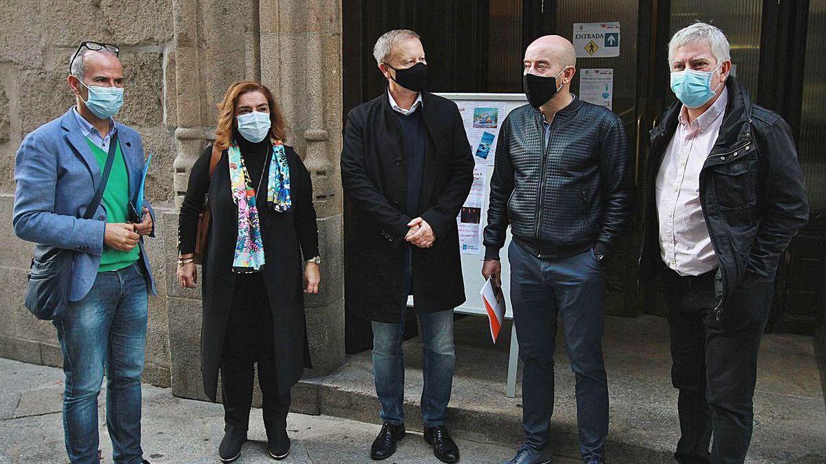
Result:
{"label": "grey-haired man in open black jacket and light blue mask", "polygon": [[680,101],[651,131],[640,283],[665,290],[676,461],[742,463],[777,263],[808,220],[803,174],[789,125],[729,74],[722,31],[678,31],[668,61]]}

